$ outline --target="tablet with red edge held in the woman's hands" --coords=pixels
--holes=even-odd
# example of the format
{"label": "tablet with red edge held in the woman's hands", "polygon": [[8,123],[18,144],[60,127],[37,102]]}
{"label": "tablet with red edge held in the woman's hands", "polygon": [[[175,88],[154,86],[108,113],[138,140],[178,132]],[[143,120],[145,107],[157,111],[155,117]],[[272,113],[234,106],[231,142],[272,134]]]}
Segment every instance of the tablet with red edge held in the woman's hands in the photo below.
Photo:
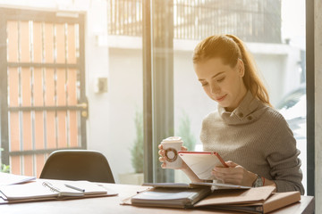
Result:
{"label": "tablet with red edge held in the woman's hands", "polygon": [[182,161],[184,161],[201,180],[216,179],[211,175],[211,171],[217,166],[228,167],[217,152],[178,151],[178,153],[182,158]]}

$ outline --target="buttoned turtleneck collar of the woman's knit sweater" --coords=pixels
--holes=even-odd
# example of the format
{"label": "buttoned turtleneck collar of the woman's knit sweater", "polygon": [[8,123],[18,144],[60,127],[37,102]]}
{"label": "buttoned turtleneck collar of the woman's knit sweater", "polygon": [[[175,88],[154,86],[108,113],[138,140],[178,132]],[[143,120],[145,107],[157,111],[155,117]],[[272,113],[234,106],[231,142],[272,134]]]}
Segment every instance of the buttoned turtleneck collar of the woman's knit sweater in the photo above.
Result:
{"label": "buttoned turtleneck collar of the woman's knit sweater", "polygon": [[218,105],[218,112],[225,123],[229,125],[246,124],[257,120],[262,114],[262,111],[256,111],[258,107],[260,107],[260,103],[261,102],[248,91],[240,105],[233,112],[225,111],[225,108],[220,105]]}

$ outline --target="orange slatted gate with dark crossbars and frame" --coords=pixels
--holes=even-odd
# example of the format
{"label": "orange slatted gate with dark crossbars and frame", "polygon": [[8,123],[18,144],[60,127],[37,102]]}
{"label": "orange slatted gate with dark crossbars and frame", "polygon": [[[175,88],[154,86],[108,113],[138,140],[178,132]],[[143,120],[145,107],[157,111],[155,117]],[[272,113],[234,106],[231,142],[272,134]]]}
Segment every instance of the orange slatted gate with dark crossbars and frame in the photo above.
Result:
{"label": "orange slatted gate with dark crossbars and frame", "polygon": [[2,161],[39,176],[50,152],[86,147],[83,17],[0,10]]}

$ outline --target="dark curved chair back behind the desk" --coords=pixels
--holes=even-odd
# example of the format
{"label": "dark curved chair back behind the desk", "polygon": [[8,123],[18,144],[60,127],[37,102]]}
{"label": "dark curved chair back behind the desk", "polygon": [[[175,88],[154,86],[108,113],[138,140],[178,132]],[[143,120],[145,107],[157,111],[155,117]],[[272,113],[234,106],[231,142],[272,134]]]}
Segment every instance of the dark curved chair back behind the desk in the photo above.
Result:
{"label": "dark curved chair back behind the desk", "polygon": [[52,152],[40,178],[115,183],[106,157],[101,152],[92,150]]}

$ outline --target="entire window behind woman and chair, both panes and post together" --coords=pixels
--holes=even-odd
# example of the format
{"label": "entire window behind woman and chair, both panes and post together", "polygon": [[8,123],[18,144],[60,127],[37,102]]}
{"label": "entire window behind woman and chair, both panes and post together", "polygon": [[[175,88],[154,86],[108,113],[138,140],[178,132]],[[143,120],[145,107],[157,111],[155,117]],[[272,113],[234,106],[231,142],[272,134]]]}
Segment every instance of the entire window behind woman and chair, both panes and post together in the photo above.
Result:
{"label": "entire window behind woman and chair, both panes and post together", "polygon": [[[285,115],[291,114],[289,122],[301,150],[305,185],[307,164],[305,162],[306,136],[303,128],[305,128],[306,119],[292,117],[295,116],[292,108],[301,105],[305,100],[305,92],[299,96],[297,94],[297,89],[306,88],[304,3],[304,0],[75,0],[64,2],[44,0],[41,5],[38,2],[23,2],[0,4],[0,7],[20,8],[37,19],[40,17],[39,13],[45,14],[44,17],[51,14],[59,20],[59,23],[63,23],[64,37],[59,40],[62,41],[59,44],[67,41],[65,43],[67,45],[62,45],[64,51],[62,53],[56,51],[54,58],[58,59],[64,53],[67,58],[65,57],[61,64],[58,63],[58,69],[76,70],[72,86],[68,82],[71,76],[66,73],[62,75],[64,78],[62,88],[67,92],[71,87],[76,87],[77,102],[73,103],[73,106],[67,106],[67,109],[69,112],[78,111],[77,123],[75,123],[77,127],[73,127],[77,134],[68,134],[64,137],[67,142],[72,142],[72,139],[77,136],[77,143],[68,143],[64,147],[72,148],[72,145],[77,145],[103,152],[110,162],[115,181],[124,184],[133,183],[135,180],[134,184],[141,184],[143,182],[141,172],[144,168],[146,181],[188,181],[187,177],[179,171],[160,168],[157,144],[167,136],[182,136],[191,150],[202,150],[199,140],[201,121],[208,112],[216,110],[216,103],[210,101],[199,86],[192,67],[192,51],[202,38],[213,34],[229,33],[241,37],[258,63],[271,102]],[[288,10],[290,7],[292,10]],[[21,17],[17,12],[13,12],[11,16],[15,20]],[[69,22],[71,20],[72,22]],[[38,22],[32,19],[25,21],[30,30],[34,29],[34,26],[37,26],[34,23]],[[54,26],[54,40],[55,44],[58,44],[55,20],[39,21],[39,23],[41,39],[30,42],[35,38],[30,36],[28,39],[31,40],[28,42],[21,41],[16,45],[24,45],[32,49],[41,41],[40,46],[46,46],[47,42],[43,39],[46,38],[44,26],[48,23]],[[1,24],[4,26],[7,23],[2,20]],[[20,28],[17,27],[17,29]],[[4,29],[7,30],[7,27]],[[72,53],[68,49],[70,29],[75,29],[77,63],[69,62],[68,59]],[[2,32],[1,41],[3,44],[8,44],[7,37],[4,37],[5,33]],[[58,45],[54,47],[57,48]],[[4,48],[1,50],[4,51]],[[46,48],[41,50],[47,51]],[[32,54],[30,52],[27,55],[33,57]],[[48,69],[47,65],[43,64],[47,62],[44,61],[47,53],[43,52],[41,56],[41,66],[38,64],[40,62],[27,62],[30,63],[28,66],[31,73],[35,74],[37,69],[47,73],[44,71]],[[33,59],[32,57],[30,59]],[[2,54],[1,60],[6,62],[7,59],[4,58]],[[0,72],[3,87],[9,86],[8,68],[13,66],[21,70],[26,66],[19,61],[18,64],[10,63],[6,65],[2,63]],[[54,63],[51,66],[54,66]],[[58,69],[55,68],[55,70]],[[19,72],[21,75],[21,71]],[[59,79],[58,76],[55,77],[55,84],[51,90],[56,91],[59,87]],[[30,83],[35,85],[37,81],[32,80]],[[15,86],[18,87],[19,84],[16,83]],[[47,94],[49,88],[46,88]],[[40,89],[32,90],[31,96],[36,95]],[[13,92],[13,89],[11,91]],[[12,162],[8,162],[10,152],[18,153],[11,151],[9,144],[4,144],[4,139],[21,136],[20,134],[10,136],[9,129],[4,129],[10,125],[10,118],[8,118],[7,126],[4,126],[4,118],[8,114],[4,111],[6,108],[4,100],[8,100],[8,97],[7,94],[4,95],[3,88],[0,93],[1,147],[4,149],[1,152],[1,159],[3,163],[11,164]],[[68,93],[63,94],[66,95],[66,99],[71,97]],[[54,95],[55,99],[58,99],[57,95]],[[292,97],[289,98],[289,95]],[[83,103],[87,103],[87,106]],[[85,109],[83,109],[84,106]],[[82,113],[85,110],[86,115],[83,116]],[[31,114],[35,115],[33,117],[36,119],[36,111],[32,111]],[[22,111],[20,114],[23,114]],[[70,115],[67,113],[62,117],[65,121],[61,129],[66,133],[72,129],[71,119],[68,119]],[[57,122],[57,117],[55,118]],[[81,119],[82,122],[80,122]],[[33,134],[36,132],[35,124],[30,126],[34,128],[29,133],[32,142],[36,142]],[[53,130],[45,125],[40,127],[48,130],[47,134]],[[21,125],[15,125],[11,130],[15,128],[21,128]],[[56,128],[59,129],[58,125]],[[86,133],[86,135],[81,136],[80,133]],[[145,144],[143,144],[144,141]],[[43,140],[44,142],[46,140]],[[55,142],[60,144],[61,141]],[[28,151],[35,155],[36,147],[36,144],[32,143]],[[56,148],[60,147],[50,149]],[[41,148],[41,150],[44,149],[47,147]],[[143,153],[143,150],[146,153]],[[33,158],[33,160],[36,159]],[[20,170],[21,174],[24,172]],[[133,174],[133,177],[129,178],[130,174]]]}

